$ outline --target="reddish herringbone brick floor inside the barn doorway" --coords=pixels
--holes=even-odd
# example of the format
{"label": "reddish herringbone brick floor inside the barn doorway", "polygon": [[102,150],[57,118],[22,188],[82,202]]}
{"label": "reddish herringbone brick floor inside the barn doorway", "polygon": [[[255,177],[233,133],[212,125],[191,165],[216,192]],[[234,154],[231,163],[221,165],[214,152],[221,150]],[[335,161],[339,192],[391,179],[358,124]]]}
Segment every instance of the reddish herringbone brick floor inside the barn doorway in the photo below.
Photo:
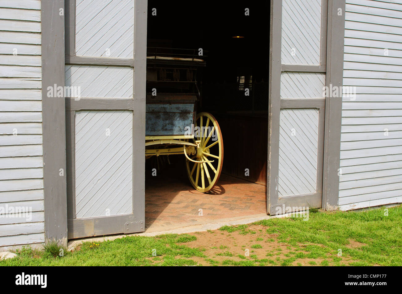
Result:
{"label": "reddish herringbone brick floor inside the barn doorway", "polygon": [[266,187],[221,174],[212,193],[191,186],[185,167],[168,166],[157,176],[146,172],[145,223],[169,229],[230,217],[266,213]]}

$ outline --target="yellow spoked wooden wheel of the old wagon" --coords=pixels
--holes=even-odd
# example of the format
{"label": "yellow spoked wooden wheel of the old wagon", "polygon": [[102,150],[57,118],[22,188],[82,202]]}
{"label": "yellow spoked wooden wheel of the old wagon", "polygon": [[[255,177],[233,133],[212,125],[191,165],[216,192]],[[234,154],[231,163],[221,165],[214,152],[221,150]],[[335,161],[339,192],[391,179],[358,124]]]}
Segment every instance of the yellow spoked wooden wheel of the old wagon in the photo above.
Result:
{"label": "yellow spoked wooden wheel of the old wagon", "polygon": [[[219,180],[224,160],[224,142],[215,118],[207,113],[197,114],[193,143],[199,143],[195,155],[186,158],[187,175],[193,187],[200,192],[210,191]],[[201,161],[201,162],[198,162]],[[213,161],[213,162],[211,162]]]}

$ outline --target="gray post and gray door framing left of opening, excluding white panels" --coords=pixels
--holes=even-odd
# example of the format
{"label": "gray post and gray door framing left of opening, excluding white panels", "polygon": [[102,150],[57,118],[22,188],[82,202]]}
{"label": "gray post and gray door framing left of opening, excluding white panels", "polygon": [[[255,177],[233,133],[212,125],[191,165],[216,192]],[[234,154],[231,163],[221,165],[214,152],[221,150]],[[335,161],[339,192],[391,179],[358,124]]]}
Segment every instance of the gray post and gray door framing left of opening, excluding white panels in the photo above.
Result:
{"label": "gray post and gray door framing left of opening, excluding white panels", "polygon": [[[145,229],[145,97],[147,1],[135,0],[133,59],[76,57],[74,25],[75,0],[42,0],[42,108],[45,240],[67,245],[68,238],[133,233]],[[72,10],[74,7],[74,10]],[[61,13],[64,11],[64,13]],[[70,13],[74,11],[74,14]],[[62,15],[60,15],[62,14]],[[66,17],[64,17],[66,15]],[[71,22],[73,20],[73,22]],[[74,41],[73,43],[71,41]],[[75,45],[74,45],[75,46]],[[73,49],[73,50],[72,50]],[[101,60],[100,60],[101,59]],[[47,97],[47,86],[65,85],[65,64],[117,65],[134,67],[133,99]],[[124,100],[124,101],[123,101]],[[133,213],[90,219],[69,219],[74,184],[74,112],[79,109],[133,110]],[[66,111],[68,116],[66,116]],[[66,135],[68,139],[66,140]],[[66,148],[68,152],[66,152]],[[64,172],[60,173],[60,169]],[[63,174],[63,176],[59,175]],[[73,214],[74,215],[74,214]],[[72,224],[74,223],[74,224]],[[68,229],[68,227],[73,229]]]}

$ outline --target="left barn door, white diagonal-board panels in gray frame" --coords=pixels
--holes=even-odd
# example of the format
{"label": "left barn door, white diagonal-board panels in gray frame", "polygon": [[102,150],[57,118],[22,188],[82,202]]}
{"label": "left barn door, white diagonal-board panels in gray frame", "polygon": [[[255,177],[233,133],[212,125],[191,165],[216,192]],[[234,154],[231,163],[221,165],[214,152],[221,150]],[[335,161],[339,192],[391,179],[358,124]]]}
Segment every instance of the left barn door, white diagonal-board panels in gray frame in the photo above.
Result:
{"label": "left barn door, white diagonal-board panels in gray frame", "polygon": [[147,1],[65,3],[68,238],[144,231]]}

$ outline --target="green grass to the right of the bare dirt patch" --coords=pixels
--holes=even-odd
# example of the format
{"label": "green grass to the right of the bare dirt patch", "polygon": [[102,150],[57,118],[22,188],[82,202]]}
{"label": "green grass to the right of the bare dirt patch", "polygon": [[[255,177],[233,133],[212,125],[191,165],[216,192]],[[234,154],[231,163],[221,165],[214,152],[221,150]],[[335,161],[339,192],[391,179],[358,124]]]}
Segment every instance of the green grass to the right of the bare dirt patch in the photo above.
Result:
{"label": "green grass to the right of the bare dirt patch", "polygon": [[[304,254],[305,258],[327,258],[328,254],[336,257],[338,249],[342,249],[343,256],[351,258],[350,265],[402,266],[402,206],[389,208],[388,216],[380,208],[361,212],[315,212],[309,221],[275,218],[255,224],[269,227],[267,233],[277,233],[278,242],[312,244],[303,247],[309,252]],[[350,240],[364,244],[351,248]],[[328,261],[321,265],[328,265]]]}

